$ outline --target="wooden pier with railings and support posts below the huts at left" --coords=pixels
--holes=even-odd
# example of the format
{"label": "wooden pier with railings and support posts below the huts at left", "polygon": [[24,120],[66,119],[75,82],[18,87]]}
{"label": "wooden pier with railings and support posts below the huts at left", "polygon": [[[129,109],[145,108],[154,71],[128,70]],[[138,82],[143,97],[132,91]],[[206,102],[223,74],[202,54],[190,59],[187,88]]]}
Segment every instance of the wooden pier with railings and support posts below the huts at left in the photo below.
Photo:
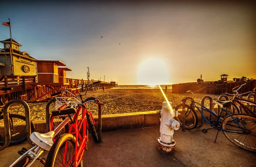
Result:
{"label": "wooden pier with railings and support posts below the huts at left", "polygon": [[[51,97],[51,94],[60,92],[61,90],[73,91],[81,88],[84,91],[85,86],[89,83],[96,82],[94,80],[79,80],[67,78],[68,83],[37,83],[36,76],[3,76],[0,75],[0,88],[12,87],[12,90],[0,90],[0,98],[3,102],[12,99],[21,99],[24,101],[41,101]],[[92,84],[88,90],[102,89],[103,86],[108,89],[114,87],[113,84],[101,82]]]}

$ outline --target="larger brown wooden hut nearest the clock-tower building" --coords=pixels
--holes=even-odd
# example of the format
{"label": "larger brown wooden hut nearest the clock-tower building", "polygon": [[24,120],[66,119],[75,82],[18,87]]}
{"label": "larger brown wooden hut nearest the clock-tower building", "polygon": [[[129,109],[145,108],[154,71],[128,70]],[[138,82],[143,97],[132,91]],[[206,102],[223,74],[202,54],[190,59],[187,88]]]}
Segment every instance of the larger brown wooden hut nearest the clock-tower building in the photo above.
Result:
{"label": "larger brown wooden hut nearest the clock-tower building", "polygon": [[59,60],[32,60],[37,64],[38,83],[58,83],[58,66],[66,66]]}

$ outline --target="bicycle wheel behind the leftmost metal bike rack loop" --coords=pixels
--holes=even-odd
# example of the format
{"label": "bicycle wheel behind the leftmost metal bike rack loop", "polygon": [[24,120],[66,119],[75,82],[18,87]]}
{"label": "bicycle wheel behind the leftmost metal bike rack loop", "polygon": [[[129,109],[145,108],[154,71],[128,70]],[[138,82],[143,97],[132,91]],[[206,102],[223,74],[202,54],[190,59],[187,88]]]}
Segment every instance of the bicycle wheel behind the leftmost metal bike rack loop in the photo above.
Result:
{"label": "bicycle wheel behind the leftmost metal bike rack loop", "polygon": [[[20,114],[9,114],[11,141],[9,146],[17,145],[26,141],[26,118]],[[35,131],[35,125],[30,121],[31,132]],[[5,143],[3,115],[0,116],[0,145]]]}

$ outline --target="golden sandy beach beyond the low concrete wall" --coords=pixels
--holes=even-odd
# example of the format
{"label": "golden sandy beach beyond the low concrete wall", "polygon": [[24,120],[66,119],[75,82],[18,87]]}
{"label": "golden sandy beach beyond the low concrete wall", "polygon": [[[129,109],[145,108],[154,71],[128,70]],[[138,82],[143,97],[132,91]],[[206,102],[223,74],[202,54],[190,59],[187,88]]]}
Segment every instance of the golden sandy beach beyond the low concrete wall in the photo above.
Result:
{"label": "golden sandy beach beyond the low concrete wall", "polygon": [[[195,101],[201,102],[201,98],[208,94],[195,94]],[[186,94],[171,93],[169,89],[166,97],[173,106],[176,107],[181,104],[181,99]],[[219,95],[210,95],[213,101],[218,99]],[[105,89],[90,91],[84,98],[95,97],[98,98],[105,106],[102,107],[102,115],[119,114],[128,112],[143,112],[161,110],[162,103],[165,101],[160,89]],[[45,119],[46,102],[28,103],[32,120]],[[209,101],[206,101],[206,106],[209,106]],[[88,104],[88,109],[97,115],[97,105]],[[20,104],[14,104],[10,107],[11,113],[24,114],[24,108]]]}

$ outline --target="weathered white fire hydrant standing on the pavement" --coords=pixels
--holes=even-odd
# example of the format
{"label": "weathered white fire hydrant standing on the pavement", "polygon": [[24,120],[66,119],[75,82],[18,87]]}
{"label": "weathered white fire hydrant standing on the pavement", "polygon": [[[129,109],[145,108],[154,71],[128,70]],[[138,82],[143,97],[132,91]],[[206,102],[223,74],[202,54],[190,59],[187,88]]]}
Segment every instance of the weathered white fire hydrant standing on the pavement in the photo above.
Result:
{"label": "weathered white fire hydrant standing on the pavement", "polygon": [[158,144],[160,144],[161,149],[169,153],[175,147],[175,141],[173,140],[174,130],[178,130],[180,128],[180,122],[173,119],[178,112],[175,112],[172,109],[172,103],[163,102],[162,110],[158,113],[161,116],[161,124],[160,124],[160,138],[158,138]]}

